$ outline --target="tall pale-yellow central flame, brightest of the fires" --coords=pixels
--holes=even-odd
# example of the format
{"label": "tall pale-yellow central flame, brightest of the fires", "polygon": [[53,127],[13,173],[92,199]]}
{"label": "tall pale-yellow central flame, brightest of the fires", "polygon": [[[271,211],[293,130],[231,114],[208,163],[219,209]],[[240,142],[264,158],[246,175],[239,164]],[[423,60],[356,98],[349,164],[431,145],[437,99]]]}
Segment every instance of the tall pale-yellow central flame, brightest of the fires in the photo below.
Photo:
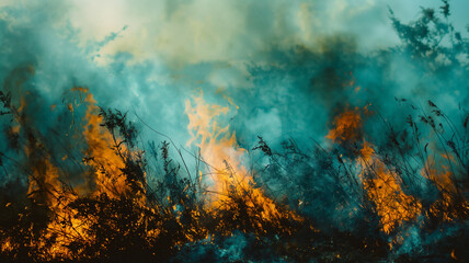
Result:
{"label": "tall pale-yellow central flame, brightest of the fires", "polygon": [[[193,103],[190,100],[185,102],[185,113],[190,121],[187,129],[192,135],[187,145],[196,145],[207,164],[206,172],[213,180],[208,191],[216,194],[211,198],[211,208],[230,209],[233,196],[244,196],[242,198],[248,207],[260,208],[263,220],[274,221],[285,217],[300,220],[294,213],[279,209],[274,201],[255,186],[252,175],[242,164],[242,160],[247,159],[247,150],[239,147],[229,125],[224,127],[217,122],[228,111],[228,107],[207,104],[202,94],[195,96]],[[250,216],[254,218],[256,215]]]}

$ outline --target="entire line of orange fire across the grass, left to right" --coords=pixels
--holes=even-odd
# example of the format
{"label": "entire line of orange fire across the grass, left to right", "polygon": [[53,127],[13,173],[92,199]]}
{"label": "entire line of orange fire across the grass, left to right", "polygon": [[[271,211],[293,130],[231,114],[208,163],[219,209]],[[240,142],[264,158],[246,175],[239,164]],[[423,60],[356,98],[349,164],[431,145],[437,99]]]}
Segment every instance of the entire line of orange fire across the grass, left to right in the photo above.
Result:
{"label": "entire line of orange fire across the grass, left to right", "polygon": [[[238,145],[236,133],[230,130],[230,126],[222,125],[221,119],[229,113],[230,106],[208,104],[202,94],[186,100],[187,129],[192,136],[187,146],[195,145],[199,148],[201,160],[206,165],[198,171],[198,183],[181,183],[184,186],[181,187],[183,195],[178,192],[173,198],[170,197],[171,194],[162,194],[165,198],[163,202],[158,199],[151,203],[155,196],[148,195],[147,199],[145,173],[151,170],[139,170],[142,173],[141,180],[134,182],[129,179],[129,165],[142,152],[135,149],[135,146],[123,142],[119,135],[124,137],[125,133],[119,130],[117,135],[114,128],[107,126],[108,115],[95,105],[96,101],[88,89],[75,88],[72,91],[79,94],[80,103],[66,103],[64,108],[69,114],[78,116],[84,113],[84,116],[77,122],[81,126],[70,129],[70,138],[84,144],[79,148],[80,157],[83,157],[79,173],[80,176],[92,180],[93,184],[82,186],[65,182],[69,171],[62,169],[58,160],[69,161],[73,158],[72,155],[67,152],[64,156],[52,156],[41,134],[28,126],[27,118],[20,117],[28,110],[27,100],[20,100],[18,110],[12,111],[15,118],[13,128],[10,129],[11,133],[27,135],[23,148],[30,172],[27,198],[34,205],[46,208],[47,220],[39,227],[35,227],[35,222],[26,227],[33,233],[25,243],[19,243],[12,238],[14,236],[0,232],[3,238],[0,245],[2,253],[18,253],[15,251],[27,247],[35,251],[34,256],[41,261],[89,260],[101,256],[100,253],[105,253],[103,251],[108,248],[124,250],[119,244],[116,245],[118,242],[130,242],[130,245],[136,247],[148,244],[148,248],[153,249],[156,244],[161,245],[169,240],[168,248],[172,249],[187,242],[216,239],[219,237],[217,235],[226,238],[236,230],[254,233],[258,238],[270,233],[275,233],[275,237],[294,237],[300,228],[309,228],[312,230],[310,233],[316,231],[307,219],[270,198],[256,184],[254,171],[245,165],[249,163],[248,150]],[[229,105],[238,108],[230,99],[227,100]],[[56,107],[52,110],[57,111]],[[347,155],[346,162],[351,161],[351,167],[356,168],[351,171],[357,171],[354,178],[358,179],[358,184],[355,185],[363,190],[357,193],[364,193],[365,199],[369,201],[363,204],[364,208],[377,216],[379,230],[392,237],[389,243],[391,249],[393,244],[403,242],[398,230],[402,230],[405,222],[416,221],[420,216],[441,217],[443,221],[451,221],[469,209],[467,201],[455,197],[458,188],[451,169],[437,163],[433,158],[426,159],[421,175],[435,183],[441,193],[439,199],[423,207],[425,203],[409,194],[397,169],[382,160],[376,147],[365,139],[363,118],[366,114],[367,107],[363,111],[357,107],[346,108],[334,117],[333,128],[327,138],[346,150],[351,150],[351,146],[362,145],[359,150]],[[457,161],[450,153],[442,155],[442,158],[449,163]],[[164,176],[168,175],[168,171],[165,172]],[[209,175],[205,181],[208,186],[201,186],[204,175]],[[174,176],[174,183],[160,187],[171,187],[172,184],[180,186],[178,174],[171,172],[171,176]],[[191,179],[181,181],[188,182]],[[210,194],[208,203],[195,199],[198,198],[199,191]],[[190,194],[197,197],[192,199]],[[302,201],[299,203],[301,205]],[[24,208],[27,209],[31,208]],[[19,215],[20,218],[22,216]],[[127,225],[121,227],[123,221]],[[134,230],[136,235],[133,233]],[[214,237],[211,231],[216,233]],[[137,241],[134,243],[134,240]],[[90,249],[95,247],[96,250]],[[336,256],[342,258],[342,254]]]}

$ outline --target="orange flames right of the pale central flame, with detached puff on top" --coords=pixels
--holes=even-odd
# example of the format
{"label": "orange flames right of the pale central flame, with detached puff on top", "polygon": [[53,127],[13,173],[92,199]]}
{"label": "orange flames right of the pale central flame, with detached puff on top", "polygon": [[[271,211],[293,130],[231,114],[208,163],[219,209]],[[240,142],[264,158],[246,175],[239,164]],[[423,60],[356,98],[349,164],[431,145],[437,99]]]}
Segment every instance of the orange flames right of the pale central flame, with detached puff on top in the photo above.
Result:
{"label": "orange flames right of the pale central flame, with detached puff on top", "polygon": [[[364,113],[367,112],[368,110],[365,107]],[[465,213],[469,209],[469,203],[458,198],[458,190],[450,169],[450,165],[456,165],[457,162],[451,153],[442,153],[444,161],[441,160],[439,163],[436,163],[435,157],[432,155],[428,155],[424,160],[425,164],[421,169],[420,175],[428,182],[433,182],[441,196],[430,205],[430,208],[423,210],[422,203],[416,197],[405,193],[402,178],[396,172],[396,168],[385,163],[375,152],[374,146],[362,138],[362,122],[361,111],[357,108],[345,110],[334,117],[333,128],[327,138],[344,147],[363,140],[359,157],[354,157],[353,161],[358,167],[362,187],[365,190],[367,198],[373,202],[379,216],[382,232],[390,235],[402,222],[415,221],[421,215],[436,216],[444,221],[465,217]],[[426,146],[425,151],[427,151]],[[435,150],[435,152],[438,151]],[[442,164],[444,162],[448,165]]]}

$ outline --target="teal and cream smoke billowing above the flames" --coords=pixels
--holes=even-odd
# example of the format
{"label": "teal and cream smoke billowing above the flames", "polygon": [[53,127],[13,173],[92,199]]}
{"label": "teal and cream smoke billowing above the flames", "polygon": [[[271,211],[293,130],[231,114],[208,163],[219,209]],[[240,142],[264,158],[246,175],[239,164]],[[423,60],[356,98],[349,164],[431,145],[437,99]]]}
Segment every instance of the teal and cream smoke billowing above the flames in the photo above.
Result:
{"label": "teal and cream smoke billowing above the flames", "polygon": [[460,66],[427,70],[407,53],[376,49],[382,45],[370,32],[386,27],[384,43],[399,35],[387,7],[374,1],[121,1],[102,12],[105,5],[4,7],[2,79],[31,65],[34,88],[25,89],[49,102],[88,87],[100,105],[137,113],[181,145],[188,138],[181,108],[198,90],[216,103],[232,99],[232,126],[247,146],[256,135],[275,145],[290,136],[320,140],[346,106],[373,103],[388,118],[402,113],[394,98],[437,98],[451,110],[467,102]]}

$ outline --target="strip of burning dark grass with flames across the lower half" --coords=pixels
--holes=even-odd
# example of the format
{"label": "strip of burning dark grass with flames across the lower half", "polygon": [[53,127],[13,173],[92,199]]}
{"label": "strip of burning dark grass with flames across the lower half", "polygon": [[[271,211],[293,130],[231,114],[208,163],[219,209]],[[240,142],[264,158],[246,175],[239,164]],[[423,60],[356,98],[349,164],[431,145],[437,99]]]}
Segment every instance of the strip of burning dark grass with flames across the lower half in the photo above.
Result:
{"label": "strip of burning dark grass with flames across the lower half", "polygon": [[[2,194],[4,260],[181,261],[194,253],[236,260],[231,252],[215,253],[229,243],[241,245],[244,256],[250,251],[247,259],[253,261],[268,260],[265,253],[285,261],[355,261],[363,259],[358,251],[368,260],[401,259],[411,229],[431,236],[465,226],[469,217],[467,141],[456,140],[466,134],[446,140],[437,127],[449,124],[447,116],[431,102],[433,114],[420,110],[420,123],[408,118],[408,136],[388,126],[387,147],[368,142],[361,110],[345,110],[331,123],[330,146],[304,152],[290,140],[276,151],[260,137],[252,153],[268,164],[248,170],[249,151],[217,122],[228,108],[201,95],[186,103],[190,144],[201,149],[191,173],[170,158],[171,144],[140,150],[126,114],[99,108],[87,89],[73,92],[81,101],[66,114],[83,107],[84,117],[69,136],[84,146],[59,160],[24,116],[27,104],[4,103],[16,133],[10,139],[26,145],[18,148],[24,159],[1,157],[27,174],[26,185],[10,182],[13,191]],[[426,126],[443,146],[420,138],[417,130]],[[162,169],[150,169],[148,157]],[[70,160],[75,169],[64,164]],[[70,180],[71,173],[81,181]],[[276,193],[268,178],[282,183]],[[237,239],[242,242],[232,244]],[[464,254],[455,251],[453,256]]]}

